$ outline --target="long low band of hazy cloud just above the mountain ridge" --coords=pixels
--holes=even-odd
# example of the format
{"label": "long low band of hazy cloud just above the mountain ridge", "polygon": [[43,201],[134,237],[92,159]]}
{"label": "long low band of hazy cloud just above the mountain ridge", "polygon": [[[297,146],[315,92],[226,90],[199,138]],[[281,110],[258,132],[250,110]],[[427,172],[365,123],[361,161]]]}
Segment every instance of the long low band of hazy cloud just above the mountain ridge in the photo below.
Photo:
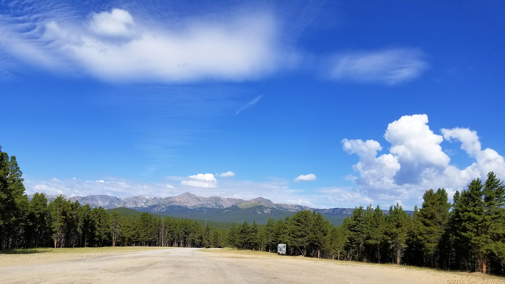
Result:
{"label": "long low band of hazy cloud just above the mountain ridge", "polygon": [[354,208],[356,205],[372,203],[369,197],[357,191],[356,188],[319,188],[315,191],[306,192],[289,188],[289,180],[280,178],[271,178],[268,181],[223,179],[215,187],[177,186],[176,184],[140,182],[113,177],[108,177],[105,182],[78,178],[59,179],[59,181],[26,179],[24,184],[28,194],[44,192],[46,194],[64,194],[67,196],[110,195],[130,197],[143,195],[147,197],[168,197],[189,191],[203,197],[222,196],[243,200],[263,197],[277,203],[300,204],[313,208]]}

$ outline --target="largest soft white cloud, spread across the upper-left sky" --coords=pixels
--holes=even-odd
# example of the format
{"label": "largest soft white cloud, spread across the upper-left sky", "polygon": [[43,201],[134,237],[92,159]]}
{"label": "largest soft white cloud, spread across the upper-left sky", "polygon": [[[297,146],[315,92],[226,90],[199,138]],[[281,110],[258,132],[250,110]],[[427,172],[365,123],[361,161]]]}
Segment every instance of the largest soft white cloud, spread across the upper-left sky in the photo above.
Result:
{"label": "largest soft white cloud, spread across the upper-left sky", "polygon": [[[280,50],[267,14],[193,19],[177,28],[156,27],[121,9],[92,14],[83,23],[64,14],[39,20],[29,32],[19,32],[15,16],[0,19],[1,47],[60,74],[85,72],[110,81],[249,80],[270,74],[292,55]],[[44,18],[38,16],[31,19]]]}

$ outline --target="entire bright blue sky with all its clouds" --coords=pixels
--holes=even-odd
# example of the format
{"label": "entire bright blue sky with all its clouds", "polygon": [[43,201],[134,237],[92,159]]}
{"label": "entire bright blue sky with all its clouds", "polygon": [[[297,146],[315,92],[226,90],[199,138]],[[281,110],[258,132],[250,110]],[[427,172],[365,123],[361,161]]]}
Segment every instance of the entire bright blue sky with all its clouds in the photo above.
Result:
{"label": "entire bright blue sky with all its clouds", "polygon": [[5,1],[26,193],[421,206],[505,179],[503,1]]}

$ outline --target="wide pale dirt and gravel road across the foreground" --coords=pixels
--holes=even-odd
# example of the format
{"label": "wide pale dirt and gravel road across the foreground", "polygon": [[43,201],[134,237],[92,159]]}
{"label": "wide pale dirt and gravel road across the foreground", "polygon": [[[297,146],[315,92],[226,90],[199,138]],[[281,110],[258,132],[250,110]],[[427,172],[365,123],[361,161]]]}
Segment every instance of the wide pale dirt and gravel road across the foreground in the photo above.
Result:
{"label": "wide pale dirt and gravel road across the foreground", "polygon": [[[0,283],[448,283],[479,277],[427,269],[327,262],[193,248],[0,266]],[[458,282],[456,282],[458,283]],[[464,283],[467,283],[465,280]]]}

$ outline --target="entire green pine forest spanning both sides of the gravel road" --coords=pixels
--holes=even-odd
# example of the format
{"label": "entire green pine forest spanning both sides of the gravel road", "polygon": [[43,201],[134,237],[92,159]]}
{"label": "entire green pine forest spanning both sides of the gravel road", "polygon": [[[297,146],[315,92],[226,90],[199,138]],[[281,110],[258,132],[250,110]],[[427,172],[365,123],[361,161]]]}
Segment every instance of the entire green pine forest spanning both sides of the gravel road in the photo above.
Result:
{"label": "entire green pine forest spanning both sides of the gravel road", "polygon": [[474,179],[448,202],[443,188],[426,191],[413,216],[399,204],[356,207],[334,226],[320,213],[212,228],[190,219],[143,212],[125,216],[62,196],[28,201],[15,156],[0,148],[0,250],[104,246],[230,247],[358,262],[408,264],[505,275],[505,187],[493,172]]}

